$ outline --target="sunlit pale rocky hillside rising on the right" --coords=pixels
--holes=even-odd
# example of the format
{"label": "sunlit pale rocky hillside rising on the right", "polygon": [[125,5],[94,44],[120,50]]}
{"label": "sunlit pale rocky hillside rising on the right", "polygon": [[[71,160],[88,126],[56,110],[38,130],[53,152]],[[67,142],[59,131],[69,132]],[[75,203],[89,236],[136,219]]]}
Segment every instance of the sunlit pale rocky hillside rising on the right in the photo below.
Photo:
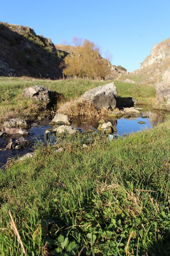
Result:
{"label": "sunlit pale rocky hillside rising on the right", "polygon": [[120,75],[119,81],[130,79],[136,83],[157,85],[165,70],[170,66],[170,38],[156,44],[151,54],[141,63],[140,70],[127,75]]}

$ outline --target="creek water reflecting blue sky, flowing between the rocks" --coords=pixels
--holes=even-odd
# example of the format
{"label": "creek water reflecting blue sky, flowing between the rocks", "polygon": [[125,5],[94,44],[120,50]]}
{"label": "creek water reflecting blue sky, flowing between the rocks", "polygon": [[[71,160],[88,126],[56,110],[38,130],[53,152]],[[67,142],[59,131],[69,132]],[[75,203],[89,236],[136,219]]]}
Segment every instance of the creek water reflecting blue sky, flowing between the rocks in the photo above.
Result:
{"label": "creek water reflecting blue sky, flowing between the rocks", "polygon": [[[137,132],[139,130],[152,128],[158,123],[163,122],[169,116],[169,113],[158,110],[143,109],[141,110],[141,112],[147,117],[109,117],[105,119],[105,121],[110,121],[112,124],[114,124],[117,129],[117,135],[128,135],[131,132]],[[15,139],[22,137],[22,135],[11,135],[0,138],[0,168],[3,168],[4,164],[7,163],[8,159],[12,159],[13,157],[22,156],[26,153],[33,152],[35,144],[39,143],[40,141],[45,142],[45,131],[52,128],[50,121],[51,120],[47,118],[43,121],[31,124],[31,128],[28,130],[29,134],[24,135],[24,138],[29,141],[29,144],[28,146],[26,146],[26,148],[22,148],[20,150],[6,149],[6,146],[9,144],[10,139],[15,141]],[[139,124],[139,121],[143,121],[145,122],[145,124]],[[97,121],[88,121],[83,118],[73,120],[71,124],[71,126],[81,130],[82,132],[87,132],[88,129],[93,129],[95,132],[97,132],[98,125],[99,123]]]}

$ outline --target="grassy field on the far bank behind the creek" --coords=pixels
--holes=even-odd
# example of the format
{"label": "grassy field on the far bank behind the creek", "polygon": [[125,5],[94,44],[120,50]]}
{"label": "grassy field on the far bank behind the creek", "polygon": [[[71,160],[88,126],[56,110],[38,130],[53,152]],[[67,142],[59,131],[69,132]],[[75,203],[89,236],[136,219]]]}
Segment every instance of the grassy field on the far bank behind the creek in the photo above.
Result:
{"label": "grassy field on the far bank behind the creek", "polygon": [[[81,94],[107,81],[92,81],[88,79],[45,80],[16,77],[0,77],[0,123],[7,118],[22,117],[35,119],[42,116],[42,105],[22,96],[24,88],[33,85],[44,85],[50,90],[63,94],[62,102],[77,99]],[[115,83],[118,95],[135,97],[140,104],[153,105],[155,88],[152,86],[132,85],[122,82]],[[55,110],[57,107],[55,107]]]}

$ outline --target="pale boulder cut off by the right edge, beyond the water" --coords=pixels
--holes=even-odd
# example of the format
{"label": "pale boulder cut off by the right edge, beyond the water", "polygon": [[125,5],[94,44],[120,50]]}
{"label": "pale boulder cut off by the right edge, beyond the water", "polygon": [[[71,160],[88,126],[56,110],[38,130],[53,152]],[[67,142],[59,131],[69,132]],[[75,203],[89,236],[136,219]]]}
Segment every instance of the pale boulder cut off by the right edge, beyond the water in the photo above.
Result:
{"label": "pale boulder cut off by the right edge, beyond the water", "polygon": [[162,80],[156,85],[157,100],[170,105],[170,67],[163,73]]}

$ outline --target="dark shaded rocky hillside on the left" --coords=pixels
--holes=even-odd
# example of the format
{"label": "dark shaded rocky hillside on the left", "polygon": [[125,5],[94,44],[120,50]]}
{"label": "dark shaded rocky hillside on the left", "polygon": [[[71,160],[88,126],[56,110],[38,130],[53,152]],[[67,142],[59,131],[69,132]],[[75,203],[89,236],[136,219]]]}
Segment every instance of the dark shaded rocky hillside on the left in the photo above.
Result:
{"label": "dark shaded rocky hillside on the left", "polygon": [[59,79],[66,53],[30,27],[0,22],[0,76]]}

